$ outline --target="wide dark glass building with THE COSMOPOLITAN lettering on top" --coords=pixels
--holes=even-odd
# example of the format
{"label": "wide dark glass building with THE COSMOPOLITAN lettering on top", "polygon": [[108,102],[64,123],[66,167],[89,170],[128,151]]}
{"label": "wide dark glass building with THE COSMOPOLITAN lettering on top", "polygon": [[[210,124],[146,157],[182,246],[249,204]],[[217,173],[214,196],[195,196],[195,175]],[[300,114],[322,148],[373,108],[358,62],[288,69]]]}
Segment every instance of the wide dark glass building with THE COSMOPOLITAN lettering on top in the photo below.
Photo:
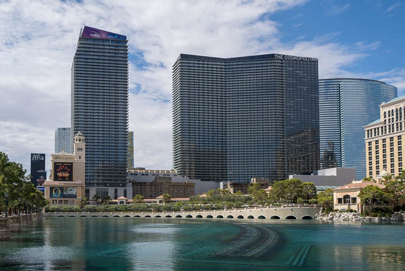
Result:
{"label": "wide dark glass building with THE COSMOPOLITAN lettering on top", "polygon": [[287,179],[319,167],[316,58],[181,54],[173,65],[173,162],[206,181]]}

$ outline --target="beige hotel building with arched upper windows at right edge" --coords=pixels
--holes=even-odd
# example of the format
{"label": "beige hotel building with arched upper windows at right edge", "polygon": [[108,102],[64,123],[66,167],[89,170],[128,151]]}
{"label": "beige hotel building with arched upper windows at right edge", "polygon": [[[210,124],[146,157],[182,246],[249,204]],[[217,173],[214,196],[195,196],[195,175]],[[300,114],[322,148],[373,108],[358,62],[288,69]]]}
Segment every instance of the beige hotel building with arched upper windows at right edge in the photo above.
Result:
{"label": "beige hotel building with arched upper windows at right edge", "polygon": [[402,139],[405,140],[405,95],[380,105],[380,119],[363,126],[366,133],[367,177],[402,171]]}

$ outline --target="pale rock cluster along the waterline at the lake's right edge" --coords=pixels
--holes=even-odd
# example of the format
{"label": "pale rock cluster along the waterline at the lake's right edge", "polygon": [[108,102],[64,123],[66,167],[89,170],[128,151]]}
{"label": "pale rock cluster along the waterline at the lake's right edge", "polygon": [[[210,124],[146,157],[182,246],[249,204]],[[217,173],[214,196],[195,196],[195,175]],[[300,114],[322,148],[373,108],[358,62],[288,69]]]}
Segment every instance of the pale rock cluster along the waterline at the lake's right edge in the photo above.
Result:
{"label": "pale rock cluster along the waterline at the lake's right edge", "polygon": [[331,212],[329,214],[318,214],[318,220],[332,220],[332,221],[367,221],[367,222],[380,222],[380,221],[405,221],[405,213],[393,213],[390,217],[371,217],[360,216],[360,213],[346,213],[346,212]]}

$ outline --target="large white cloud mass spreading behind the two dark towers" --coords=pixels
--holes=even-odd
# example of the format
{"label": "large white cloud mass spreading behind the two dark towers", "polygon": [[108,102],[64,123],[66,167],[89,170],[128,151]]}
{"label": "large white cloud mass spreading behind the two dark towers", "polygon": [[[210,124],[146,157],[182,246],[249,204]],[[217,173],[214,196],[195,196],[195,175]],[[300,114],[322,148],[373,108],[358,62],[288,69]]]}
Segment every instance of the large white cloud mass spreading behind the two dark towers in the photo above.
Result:
{"label": "large white cloud mass spreading behind the two dark towers", "polygon": [[[360,47],[373,44],[333,42],[340,32],[314,40],[305,40],[308,35],[301,34],[294,44],[282,43],[279,22],[272,21],[271,14],[305,2],[0,2],[0,151],[25,168],[29,168],[30,152],[45,152],[50,167],[54,130],[70,125],[70,68],[79,30],[88,25],[127,35],[130,53],[143,56],[144,66],[130,63],[129,129],[134,131],[135,163],[169,169],[171,68],[180,53],[318,57],[320,78],[349,74],[345,69],[367,56]],[[403,86],[403,73],[395,74],[392,82]]]}

